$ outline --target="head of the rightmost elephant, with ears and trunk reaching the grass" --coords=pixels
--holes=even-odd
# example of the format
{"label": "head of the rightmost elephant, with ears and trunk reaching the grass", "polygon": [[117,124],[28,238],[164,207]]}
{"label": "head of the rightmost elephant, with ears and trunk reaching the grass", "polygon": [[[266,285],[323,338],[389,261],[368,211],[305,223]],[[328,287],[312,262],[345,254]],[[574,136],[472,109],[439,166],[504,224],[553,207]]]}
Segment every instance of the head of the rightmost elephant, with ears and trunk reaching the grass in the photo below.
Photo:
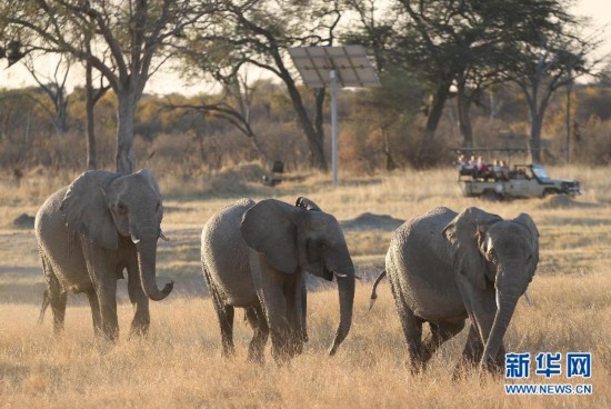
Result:
{"label": "head of the rightmost elephant, with ears and trunk reaching the grass", "polygon": [[539,231],[530,216],[503,220],[478,208],[468,208],[444,229],[457,273],[479,290],[494,286],[497,311],[482,363],[495,360],[509,321],[534,276],[539,262]]}

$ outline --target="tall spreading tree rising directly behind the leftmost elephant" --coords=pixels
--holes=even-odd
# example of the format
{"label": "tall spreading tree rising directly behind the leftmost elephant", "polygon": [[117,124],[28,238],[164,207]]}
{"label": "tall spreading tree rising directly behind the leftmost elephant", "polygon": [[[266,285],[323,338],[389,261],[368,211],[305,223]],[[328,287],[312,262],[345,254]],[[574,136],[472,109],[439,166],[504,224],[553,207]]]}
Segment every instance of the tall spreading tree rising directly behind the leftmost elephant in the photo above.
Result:
{"label": "tall spreading tree rising directly behind the leftmost elephant", "polygon": [[[214,10],[214,0],[3,0],[2,36],[26,50],[68,53],[109,81],[118,101],[117,170],[133,171],[134,111],[148,79],[169,58],[186,27]],[[88,47],[93,44],[106,47]],[[110,62],[99,49],[108,49]]]}

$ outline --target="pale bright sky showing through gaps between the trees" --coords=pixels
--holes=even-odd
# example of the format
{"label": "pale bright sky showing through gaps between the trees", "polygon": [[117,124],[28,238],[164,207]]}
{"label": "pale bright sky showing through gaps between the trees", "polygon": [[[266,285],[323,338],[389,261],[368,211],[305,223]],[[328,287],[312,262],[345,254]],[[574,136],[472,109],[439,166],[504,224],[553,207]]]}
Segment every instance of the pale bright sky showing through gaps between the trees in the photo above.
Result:
{"label": "pale bright sky showing through gaps between the trees", "polygon": [[[605,43],[601,47],[600,53],[601,56],[611,54],[611,0],[578,0],[575,1],[573,11],[577,16],[590,18],[593,28],[603,30],[602,38],[605,40]],[[1,63],[6,64],[6,60]],[[48,61],[42,64],[37,63],[37,68],[39,66],[48,67],[49,72],[46,73],[46,76],[48,78],[52,77],[53,72],[51,70],[54,69],[56,66],[52,61]],[[69,81],[69,89],[81,84],[82,82],[79,81],[84,79],[84,73],[79,72],[78,69],[76,69],[74,72],[70,74],[70,78],[74,78],[74,80]],[[251,79],[254,80],[256,78],[251,76]],[[33,84],[36,84],[36,82],[20,63],[17,63],[9,69],[1,69],[0,71],[0,88],[21,88]],[[144,90],[144,92],[157,94],[167,94],[172,92],[194,94],[206,91],[213,91],[213,87],[206,82],[189,83],[181,80],[169,69],[158,71],[149,80]]]}

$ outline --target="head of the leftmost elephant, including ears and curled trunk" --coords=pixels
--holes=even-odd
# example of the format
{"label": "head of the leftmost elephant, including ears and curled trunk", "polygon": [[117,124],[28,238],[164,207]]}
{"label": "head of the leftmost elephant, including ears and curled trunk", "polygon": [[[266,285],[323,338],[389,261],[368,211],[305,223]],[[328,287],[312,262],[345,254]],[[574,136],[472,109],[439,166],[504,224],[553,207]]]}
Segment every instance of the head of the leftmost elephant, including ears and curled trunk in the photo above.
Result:
{"label": "head of the leftmost elephant, including ears and curled trunk", "polygon": [[161,237],[163,207],[154,176],[149,170],[120,174],[87,171],[68,188],[61,210],[66,226],[94,245],[117,250],[119,237],[131,238],[138,253],[142,289],[162,300],[173,282],[159,290],[156,280],[157,240]]}

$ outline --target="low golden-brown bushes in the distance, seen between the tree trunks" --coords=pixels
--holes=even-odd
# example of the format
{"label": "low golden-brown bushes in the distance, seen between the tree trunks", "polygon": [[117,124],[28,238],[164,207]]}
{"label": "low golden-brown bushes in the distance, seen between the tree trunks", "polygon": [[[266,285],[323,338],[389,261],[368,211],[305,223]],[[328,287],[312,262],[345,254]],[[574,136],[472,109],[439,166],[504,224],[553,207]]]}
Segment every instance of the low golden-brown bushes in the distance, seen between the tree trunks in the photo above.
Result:
{"label": "low golden-brown bushes in the distance, seen between the tree trunks", "polygon": [[[405,81],[404,87],[411,87],[410,82]],[[401,94],[400,90],[394,91]],[[313,103],[313,92],[302,89],[302,93],[311,98],[307,103]],[[342,170],[371,173],[411,167],[415,162],[427,107],[417,99],[393,100],[388,93],[384,89],[340,92]],[[270,81],[252,84],[247,107],[251,136],[241,132],[219,112],[190,108],[218,98],[144,94],[136,112],[137,166],[183,176],[253,160],[266,163],[281,160],[288,170],[309,166],[308,146],[282,86]],[[385,99],[385,103],[373,103],[380,99]],[[66,123],[60,131],[52,102],[40,89],[0,91],[0,167],[4,174],[37,167],[87,168],[83,90],[76,89],[66,100]],[[609,163],[611,87],[603,82],[575,86],[571,102],[573,120],[567,128],[567,96],[558,93],[552,100],[542,132],[542,160],[564,163],[569,141],[572,162]],[[116,104],[113,93],[108,92],[96,106],[100,168],[114,166]],[[323,111],[329,113],[329,107]],[[457,116],[455,99],[451,98],[443,110],[431,164],[448,164],[455,159],[448,148],[461,144]],[[528,147],[530,121],[518,90],[507,87],[488,92],[472,110],[471,118],[475,146]],[[324,122],[329,123],[328,118]],[[329,131],[325,126],[327,134]],[[327,147],[325,152],[329,151]]]}

